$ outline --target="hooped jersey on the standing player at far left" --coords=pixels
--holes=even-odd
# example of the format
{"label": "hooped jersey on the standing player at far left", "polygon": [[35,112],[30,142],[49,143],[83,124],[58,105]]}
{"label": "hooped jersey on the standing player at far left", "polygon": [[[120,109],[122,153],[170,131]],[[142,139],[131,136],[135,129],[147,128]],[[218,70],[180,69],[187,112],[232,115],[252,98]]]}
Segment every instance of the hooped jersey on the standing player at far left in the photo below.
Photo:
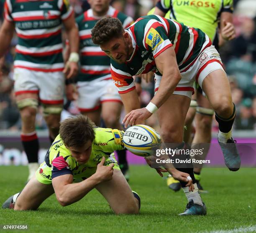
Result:
{"label": "hooped jersey on the standing player at far left", "polygon": [[72,13],[69,0],[6,0],[5,20],[18,36],[14,68],[62,71],[61,21]]}

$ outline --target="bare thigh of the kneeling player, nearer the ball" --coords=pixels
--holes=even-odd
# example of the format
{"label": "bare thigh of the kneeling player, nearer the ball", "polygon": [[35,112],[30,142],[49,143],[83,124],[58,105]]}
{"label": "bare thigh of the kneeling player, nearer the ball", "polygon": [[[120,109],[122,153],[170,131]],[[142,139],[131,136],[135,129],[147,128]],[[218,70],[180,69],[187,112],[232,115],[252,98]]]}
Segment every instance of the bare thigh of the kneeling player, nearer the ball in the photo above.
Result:
{"label": "bare thigh of the kneeling player, nearer the ball", "polygon": [[108,201],[115,213],[138,213],[137,199],[134,198],[132,190],[120,170],[114,169],[112,180],[98,184],[96,189]]}

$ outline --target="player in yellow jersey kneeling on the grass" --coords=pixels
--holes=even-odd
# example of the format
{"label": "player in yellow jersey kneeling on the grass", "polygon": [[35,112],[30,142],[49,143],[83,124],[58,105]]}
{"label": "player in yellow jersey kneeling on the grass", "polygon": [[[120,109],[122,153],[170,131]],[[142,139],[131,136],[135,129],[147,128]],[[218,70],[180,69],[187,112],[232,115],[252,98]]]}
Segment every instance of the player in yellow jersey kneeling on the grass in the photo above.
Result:
{"label": "player in yellow jersey kneeling on the grass", "polygon": [[[62,121],[44,163],[25,188],[8,198],[2,208],[36,210],[53,193],[66,206],[96,188],[114,213],[138,213],[140,197],[131,190],[113,153],[124,149],[122,135],[120,130],[96,128],[84,115]],[[73,183],[79,180],[82,181]]]}

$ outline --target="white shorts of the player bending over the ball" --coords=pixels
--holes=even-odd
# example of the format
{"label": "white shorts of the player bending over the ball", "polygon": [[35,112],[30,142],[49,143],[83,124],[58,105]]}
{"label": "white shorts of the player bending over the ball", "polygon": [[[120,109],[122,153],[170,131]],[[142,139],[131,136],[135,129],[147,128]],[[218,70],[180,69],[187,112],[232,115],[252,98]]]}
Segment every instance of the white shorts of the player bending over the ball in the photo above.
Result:
{"label": "white shorts of the player bending over the ball", "polygon": [[[191,98],[194,93],[193,83],[197,82],[202,88],[202,82],[214,70],[223,70],[220,55],[213,45],[205,48],[196,58],[195,63],[180,70],[182,79],[179,81],[173,94],[186,95]],[[225,72],[225,71],[224,71]],[[155,75],[155,93],[157,92],[162,76]]]}

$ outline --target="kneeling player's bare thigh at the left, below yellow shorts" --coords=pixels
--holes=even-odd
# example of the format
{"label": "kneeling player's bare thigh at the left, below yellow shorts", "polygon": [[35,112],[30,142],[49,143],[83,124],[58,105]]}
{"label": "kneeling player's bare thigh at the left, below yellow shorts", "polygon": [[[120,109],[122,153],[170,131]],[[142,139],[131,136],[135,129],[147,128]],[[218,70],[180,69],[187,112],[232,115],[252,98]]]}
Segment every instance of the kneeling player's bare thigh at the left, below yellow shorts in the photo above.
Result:
{"label": "kneeling player's bare thigh at the left, below yellow shorts", "polygon": [[41,203],[54,193],[51,184],[40,183],[34,175],[21,191],[15,203],[15,210],[36,210]]}

